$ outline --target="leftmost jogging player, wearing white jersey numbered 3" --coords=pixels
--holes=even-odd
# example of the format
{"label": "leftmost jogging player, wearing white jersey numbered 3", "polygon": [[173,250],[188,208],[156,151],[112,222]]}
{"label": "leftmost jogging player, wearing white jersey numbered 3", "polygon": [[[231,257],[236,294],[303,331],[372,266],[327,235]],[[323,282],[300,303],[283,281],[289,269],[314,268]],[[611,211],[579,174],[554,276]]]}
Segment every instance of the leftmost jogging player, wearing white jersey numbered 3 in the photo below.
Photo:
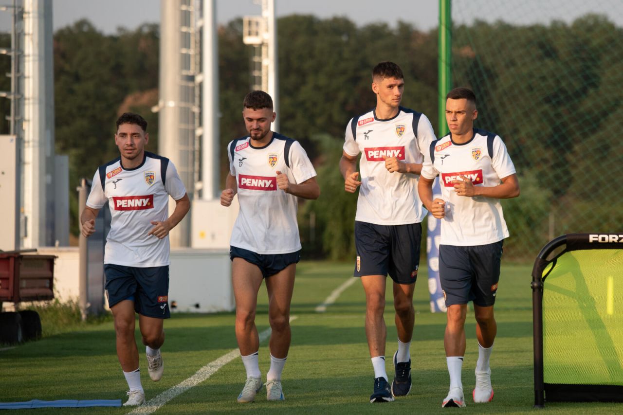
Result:
{"label": "leftmost jogging player, wearing white jersey numbered 3", "polygon": [[[124,406],[145,402],[134,337],[135,312],[150,378],[158,381],[162,377],[163,319],[169,318],[168,234],[190,208],[175,166],[167,158],[146,152],[148,141],[143,117],[124,113],[118,118],[115,144],[121,155],[97,169],[87,206],[80,215],[84,237],[95,232],[95,218],[105,204],[112,216],[104,274],[108,305],[115,319],[117,356],[130,388]],[[169,196],[176,201],[171,216]]]}

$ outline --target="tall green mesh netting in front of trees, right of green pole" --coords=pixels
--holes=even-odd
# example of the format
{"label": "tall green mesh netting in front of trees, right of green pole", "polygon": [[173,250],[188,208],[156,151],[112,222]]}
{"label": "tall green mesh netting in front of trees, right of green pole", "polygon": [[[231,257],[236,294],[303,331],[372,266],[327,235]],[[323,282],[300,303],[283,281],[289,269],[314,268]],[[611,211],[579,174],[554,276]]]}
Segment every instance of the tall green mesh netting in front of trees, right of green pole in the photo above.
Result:
{"label": "tall green mesh netting in front of trees, right of green pole", "polygon": [[502,136],[520,177],[503,201],[518,259],[623,223],[623,2],[554,3],[452,1],[453,86],[473,88],[476,126]]}

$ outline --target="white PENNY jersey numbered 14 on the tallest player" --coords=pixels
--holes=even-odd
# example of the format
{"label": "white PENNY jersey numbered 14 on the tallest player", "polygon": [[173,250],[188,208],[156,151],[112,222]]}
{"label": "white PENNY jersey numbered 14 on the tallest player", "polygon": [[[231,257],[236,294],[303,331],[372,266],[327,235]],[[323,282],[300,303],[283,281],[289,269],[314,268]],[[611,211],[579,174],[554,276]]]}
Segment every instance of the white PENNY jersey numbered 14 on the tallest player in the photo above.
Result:
{"label": "white PENNY jersey numbered 14 on the tallest player", "polygon": [[427,211],[417,195],[419,176],[389,173],[385,158],[422,163],[424,153],[435,139],[426,115],[408,108],[399,107],[396,117],[389,120],[377,118],[374,110],[350,120],[344,151],[353,157],[362,153],[355,221],[378,225],[422,222]]}

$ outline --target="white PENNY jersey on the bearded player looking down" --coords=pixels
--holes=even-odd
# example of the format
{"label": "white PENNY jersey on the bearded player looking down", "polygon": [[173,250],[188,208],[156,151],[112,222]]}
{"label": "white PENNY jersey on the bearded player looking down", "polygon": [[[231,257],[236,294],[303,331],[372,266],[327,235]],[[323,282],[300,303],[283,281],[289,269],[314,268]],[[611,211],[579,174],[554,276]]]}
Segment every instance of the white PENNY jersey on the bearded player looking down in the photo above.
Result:
{"label": "white PENNY jersey on the bearded player looking down", "polygon": [[301,249],[298,236],[297,196],[277,188],[277,171],[290,183],[316,176],[298,141],[272,133],[270,143],[254,147],[249,136],[227,145],[229,171],[236,178],[240,210],[232,230],[231,246],[256,254],[288,254]]}

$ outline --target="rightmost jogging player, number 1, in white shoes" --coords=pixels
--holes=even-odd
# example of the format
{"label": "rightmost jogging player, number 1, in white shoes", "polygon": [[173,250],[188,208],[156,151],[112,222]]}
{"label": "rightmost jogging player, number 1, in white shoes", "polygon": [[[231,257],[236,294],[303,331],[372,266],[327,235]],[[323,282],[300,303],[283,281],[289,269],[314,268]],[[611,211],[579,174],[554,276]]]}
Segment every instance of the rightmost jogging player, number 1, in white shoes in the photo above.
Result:
{"label": "rightmost jogging player, number 1, in white shoes", "polygon": [[[502,243],[508,228],[500,199],[519,196],[519,182],[502,138],[473,128],[476,97],[468,88],[451,90],[445,102],[450,133],[430,146],[419,194],[441,219],[439,277],[447,306],[444,347],[450,391],[442,406],[465,406],[461,369],[465,355],[465,316],[473,302],[478,339],[476,403],[493,399],[489,358],[497,325],[493,304],[500,279]],[[441,197],[433,199],[439,174]]]}

